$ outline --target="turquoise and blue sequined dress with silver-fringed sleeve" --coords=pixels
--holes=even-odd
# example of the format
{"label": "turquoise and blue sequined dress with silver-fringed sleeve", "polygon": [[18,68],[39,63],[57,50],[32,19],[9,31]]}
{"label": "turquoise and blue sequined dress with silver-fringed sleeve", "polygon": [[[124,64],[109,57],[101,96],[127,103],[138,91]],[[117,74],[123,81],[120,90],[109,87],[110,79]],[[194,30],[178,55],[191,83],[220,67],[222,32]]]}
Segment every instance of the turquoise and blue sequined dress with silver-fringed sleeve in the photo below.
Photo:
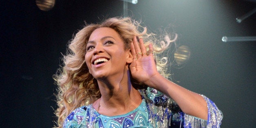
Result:
{"label": "turquoise and blue sequined dress with silver-fringed sleeve", "polygon": [[140,90],[142,102],[124,115],[108,117],[92,106],[75,109],[64,121],[64,128],[219,128],[223,118],[216,105],[207,97],[208,119],[203,120],[181,111],[179,106],[159,91]]}

